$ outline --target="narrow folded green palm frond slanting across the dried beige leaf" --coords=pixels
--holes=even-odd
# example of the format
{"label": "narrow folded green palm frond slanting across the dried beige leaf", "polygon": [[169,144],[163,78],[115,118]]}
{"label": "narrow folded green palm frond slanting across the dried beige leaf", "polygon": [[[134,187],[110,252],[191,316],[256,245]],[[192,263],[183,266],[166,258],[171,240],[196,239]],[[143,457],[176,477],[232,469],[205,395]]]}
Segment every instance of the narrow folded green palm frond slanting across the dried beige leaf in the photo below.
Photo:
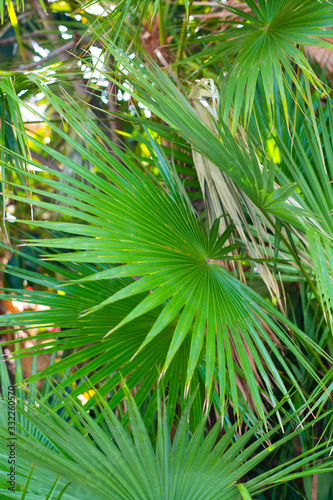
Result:
{"label": "narrow folded green palm frond slanting across the dried beige leaf", "polygon": [[245,145],[236,141],[224,122],[216,123],[213,133],[202,123],[170,77],[153,61],[149,60],[145,66],[117,49],[109,40],[105,41],[105,47],[123,68],[123,82],[114,80],[120,88],[146,105],[186,139],[196,152],[227,174],[259,209],[302,227],[297,218],[301,212],[295,207],[290,210],[286,203],[296,186],[291,183],[281,187],[274,185],[272,162],[261,165],[251,143]]}

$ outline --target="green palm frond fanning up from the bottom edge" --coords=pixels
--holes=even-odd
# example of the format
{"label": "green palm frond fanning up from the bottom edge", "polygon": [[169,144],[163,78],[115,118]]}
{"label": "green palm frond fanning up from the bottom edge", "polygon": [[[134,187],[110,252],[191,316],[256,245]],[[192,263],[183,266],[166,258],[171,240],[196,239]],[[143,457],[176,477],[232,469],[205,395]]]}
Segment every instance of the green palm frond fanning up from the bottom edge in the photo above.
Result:
{"label": "green palm frond fanning up from the bottom edge", "polygon": [[[239,481],[253,467],[300,435],[303,429],[298,427],[276,440],[274,445],[262,449],[261,445],[271,441],[279,426],[264,433],[262,422],[258,422],[234,441],[234,425],[218,440],[220,422],[205,436],[206,415],[190,435],[188,419],[194,399],[192,395],[171,440],[165,401],[162,410],[159,394],[155,406],[158,412],[155,442],[147,432],[131,393],[126,386],[124,390],[130,432],[101,398],[100,409],[107,424],[104,429],[70,396],[66,397],[64,405],[73,415],[71,422],[66,422],[48,404],[36,400],[38,405],[26,406],[19,402],[17,409],[20,414],[25,414],[27,426],[26,432],[20,432],[16,440],[20,461],[17,480],[19,484],[29,483],[26,500],[44,500],[52,484],[55,494],[63,500],[200,500],[203,497],[207,500],[240,500],[287,481],[294,474],[304,477],[330,470],[331,460],[327,458],[327,444],[323,442],[297,459],[241,483]],[[285,424],[292,423],[294,417],[290,415]],[[37,427],[48,441],[41,444],[29,432],[29,425]],[[304,428],[310,425],[312,423]],[[255,435],[257,439],[251,442]],[[3,446],[8,442],[5,426],[0,426],[0,442]],[[0,455],[0,462],[6,458]],[[321,462],[302,470],[311,459]],[[36,463],[35,471],[31,470],[32,462]],[[3,476],[0,480],[2,497],[17,498],[4,487]]]}

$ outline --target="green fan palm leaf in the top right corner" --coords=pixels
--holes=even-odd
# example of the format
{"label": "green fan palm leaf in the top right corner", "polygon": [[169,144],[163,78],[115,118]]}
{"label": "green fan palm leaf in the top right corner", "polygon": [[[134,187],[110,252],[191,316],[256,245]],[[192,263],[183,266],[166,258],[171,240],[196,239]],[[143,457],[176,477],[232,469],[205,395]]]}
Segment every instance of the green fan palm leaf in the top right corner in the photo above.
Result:
{"label": "green fan palm leaf in the top right corner", "polygon": [[[333,8],[329,1],[318,0],[245,0],[250,12],[225,5],[238,18],[238,23],[205,39],[217,45],[201,54],[205,64],[214,64],[221,58],[231,57],[233,63],[227,70],[221,97],[223,119],[227,120],[232,109],[233,131],[236,130],[242,106],[245,123],[252,112],[258,78],[262,79],[264,95],[272,113],[274,107],[274,81],[276,80],[283,103],[287,123],[288,93],[300,93],[308,99],[306,88],[301,84],[300,73],[316,87],[324,85],[315,75],[302,51],[303,45],[315,45],[331,49],[323,40],[330,38],[333,26]],[[228,19],[228,21],[230,21]],[[197,55],[195,57],[198,57]],[[287,84],[290,77],[292,86]],[[293,88],[294,87],[294,88]],[[303,101],[304,102],[304,101]]]}

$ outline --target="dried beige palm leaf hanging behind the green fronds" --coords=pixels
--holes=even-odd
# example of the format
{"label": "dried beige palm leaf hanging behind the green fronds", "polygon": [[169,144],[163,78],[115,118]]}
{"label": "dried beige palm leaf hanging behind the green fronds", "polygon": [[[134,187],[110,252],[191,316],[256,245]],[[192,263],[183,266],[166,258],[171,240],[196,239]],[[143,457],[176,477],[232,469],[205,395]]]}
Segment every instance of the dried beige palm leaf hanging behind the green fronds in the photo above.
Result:
{"label": "dried beige palm leaf hanging behind the green fronds", "polygon": [[[219,93],[214,81],[212,79],[198,81],[191,89],[190,99],[202,122],[215,133],[214,121],[218,121]],[[244,140],[243,137],[242,140]],[[272,229],[268,220],[261,212],[259,213],[254,203],[238,188],[230,177],[200,153],[193,151],[192,154],[203,192],[209,226],[217,218],[221,217],[220,232],[222,234],[228,223],[232,221],[248,255],[252,259],[267,259],[269,255],[273,254],[269,238],[267,237],[267,232]],[[255,228],[256,236],[247,222],[245,211]],[[225,217],[226,215],[228,217]],[[232,236],[230,237],[231,239]],[[233,243],[230,240],[227,244]],[[231,265],[233,266],[231,269],[235,269],[233,262]],[[282,308],[279,286],[273,273],[266,264],[262,263],[256,265],[256,270],[262,277],[270,294],[278,300]],[[243,275],[241,266],[239,266],[239,271]]]}

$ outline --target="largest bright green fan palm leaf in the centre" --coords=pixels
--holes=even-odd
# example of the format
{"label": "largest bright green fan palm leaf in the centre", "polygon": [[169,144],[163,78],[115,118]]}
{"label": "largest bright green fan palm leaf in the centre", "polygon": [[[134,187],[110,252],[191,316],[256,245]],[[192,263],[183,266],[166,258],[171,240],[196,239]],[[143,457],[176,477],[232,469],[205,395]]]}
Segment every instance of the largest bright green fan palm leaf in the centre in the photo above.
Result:
{"label": "largest bright green fan palm leaf in the centre", "polygon": [[[78,109],[73,109],[57,98],[54,98],[54,104],[90,145],[88,150],[73,141],[77,151],[103,173],[105,178],[86,171],[59,152],[40,144],[47,153],[80,173],[83,179],[91,182],[96,188],[61,172],[55,175],[65,179],[68,185],[42,175],[27,173],[28,177],[34,176],[35,185],[41,183],[55,188],[54,192],[50,191],[47,195],[51,202],[34,198],[28,200],[25,196],[14,195],[13,199],[42,209],[55,210],[77,221],[34,221],[29,224],[64,231],[71,235],[69,238],[43,241],[42,244],[49,248],[66,249],[66,253],[52,256],[52,259],[58,262],[100,263],[110,266],[109,269],[81,279],[82,283],[93,282],[97,289],[104,289],[105,293],[106,287],[115,283],[115,280],[136,277],[127,286],[113,290],[106,300],[88,310],[82,304],[80,314],[94,313],[97,317],[104,317],[105,324],[108,324],[105,331],[105,334],[109,334],[107,338],[115,338],[121,327],[128,325],[131,331],[133,325],[138,324],[139,318],[150,312],[157,313],[153,324],[143,325],[143,328],[146,328],[144,338],[139,340],[136,337],[135,352],[132,356],[137,354],[142,357],[144,348],[154,340],[161,340],[164,342],[165,353],[161,366],[164,374],[183,342],[190,340],[186,388],[202,355],[205,360],[207,399],[211,395],[213,380],[217,377],[222,405],[229,389],[236,412],[239,410],[233,349],[240,360],[240,375],[246,379],[251,398],[261,416],[264,415],[264,408],[254,375],[254,366],[262,377],[264,393],[271,401],[275,400],[272,379],[281,392],[286,393],[285,384],[276,367],[277,362],[290,380],[296,383],[285,356],[272,341],[269,329],[288,347],[293,356],[302,360],[308,372],[316,377],[309,362],[295,347],[277,319],[287,323],[302,341],[309,342],[308,339],[269,303],[221,266],[221,261],[228,258],[230,251],[230,248],[223,246],[230,229],[221,238],[217,238],[218,224],[215,224],[207,236],[198,224],[184,193],[179,194],[175,189],[172,175],[166,178],[167,189],[164,189],[130,160],[129,168],[126,168],[115,160],[100,142],[82,129]],[[54,124],[50,126],[66,137]],[[96,124],[92,124],[92,130],[94,127],[96,128]],[[112,146],[111,141],[109,145]],[[121,151],[118,153],[122,155]],[[42,168],[48,171],[46,167]],[[21,189],[25,188],[21,186]],[[42,190],[26,188],[27,190],[43,197]],[[63,195],[57,192],[62,192]],[[57,205],[54,202],[57,202]],[[41,242],[32,243],[41,245]],[[81,276],[76,278],[80,280]],[[64,290],[69,293],[70,287]],[[137,303],[132,303],[130,310],[124,311],[123,304],[132,297],[137,298]],[[106,309],[111,304],[115,308],[112,313]],[[51,321],[52,309],[48,314]],[[36,320],[36,317],[34,319]],[[54,323],[59,319],[55,316]],[[175,326],[166,340],[164,330],[172,322],[175,322]],[[318,350],[315,345],[313,348]],[[103,343],[95,349],[102,352]],[[249,352],[254,366],[249,361]],[[106,361],[107,355],[104,354],[104,357]],[[138,366],[142,363],[141,357],[133,360]]]}

